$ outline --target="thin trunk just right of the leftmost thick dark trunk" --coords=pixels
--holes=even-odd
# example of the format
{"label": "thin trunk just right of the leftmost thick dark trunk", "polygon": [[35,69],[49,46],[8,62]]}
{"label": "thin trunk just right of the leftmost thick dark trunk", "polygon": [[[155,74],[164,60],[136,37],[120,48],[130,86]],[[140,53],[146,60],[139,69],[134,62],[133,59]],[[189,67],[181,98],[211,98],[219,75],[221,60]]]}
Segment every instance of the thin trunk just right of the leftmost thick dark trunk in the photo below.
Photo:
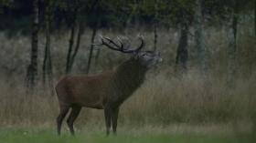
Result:
{"label": "thin trunk just right of the leftmost thick dark trunk", "polygon": [[51,12],[50,12],[50,0],[46,0],[46,11],[45,11],[45,35],[46,35],[46,46],[45,56],[43,62],[43,84],[46,86],[46,80],[48,77],[48,87],[50,88],[51,95],[53,95],[53,79],[52,79],[52,62],[50,53],[50,23],[51,23]]}

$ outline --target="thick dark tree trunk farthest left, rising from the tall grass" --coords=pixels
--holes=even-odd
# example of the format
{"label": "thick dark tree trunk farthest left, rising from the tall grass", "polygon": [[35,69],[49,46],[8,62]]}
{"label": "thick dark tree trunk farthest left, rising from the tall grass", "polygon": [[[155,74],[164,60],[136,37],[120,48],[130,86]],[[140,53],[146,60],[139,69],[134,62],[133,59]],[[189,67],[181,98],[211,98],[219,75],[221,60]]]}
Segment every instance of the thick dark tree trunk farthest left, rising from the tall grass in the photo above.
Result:
{"label": "thick dark tree trunk farthest left, rising from the tall grass", "polygon": [[31,36],[31,58],[27,67],[27,87],[33,89],[37,86],[37,48],[38,48],[38,0],[33,3],[33,26]]}

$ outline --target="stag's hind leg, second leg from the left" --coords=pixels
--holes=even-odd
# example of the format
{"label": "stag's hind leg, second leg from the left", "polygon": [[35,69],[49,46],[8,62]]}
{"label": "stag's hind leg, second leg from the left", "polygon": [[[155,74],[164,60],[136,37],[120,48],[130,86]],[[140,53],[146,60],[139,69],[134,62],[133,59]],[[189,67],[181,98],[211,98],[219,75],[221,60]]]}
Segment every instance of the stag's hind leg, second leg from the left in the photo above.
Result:
{"label": "stag's hind leg, second leg from the left", "polygon": [[74,124],[74,121],[76,120],[76,118],[79,116],[80,114],[80,109],[81,107],[72,107],[72,111],[69,115],[69,118],[67,120],[67,123],[68,123],[68,126],[69,126],[69,130],[70,130],[70,133],[71,135],[75,135],[75,131],[74,131],[74,128],[73,128],[73,124]]}

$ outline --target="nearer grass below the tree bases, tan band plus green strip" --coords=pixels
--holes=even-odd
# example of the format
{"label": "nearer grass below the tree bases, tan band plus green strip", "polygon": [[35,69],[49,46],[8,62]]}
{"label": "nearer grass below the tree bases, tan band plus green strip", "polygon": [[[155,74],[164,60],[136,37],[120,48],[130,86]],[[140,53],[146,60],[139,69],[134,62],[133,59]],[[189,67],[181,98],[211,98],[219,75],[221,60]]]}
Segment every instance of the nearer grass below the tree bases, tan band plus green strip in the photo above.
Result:
{"label": "nearer grass below the tree bases, tan band plus green strip", "polygon": [[102,110],[83,108],[75,122],[77,136],[69,135],[65,119],[59,138],[56,96],[42,90],[26,95],[18,82],[6,80],[0,82],[0,143],[253,143],[254,81],[229,90],[218,78],[204,87],[197,77],[161,74],[123,104],[116,137],[105,136]]}

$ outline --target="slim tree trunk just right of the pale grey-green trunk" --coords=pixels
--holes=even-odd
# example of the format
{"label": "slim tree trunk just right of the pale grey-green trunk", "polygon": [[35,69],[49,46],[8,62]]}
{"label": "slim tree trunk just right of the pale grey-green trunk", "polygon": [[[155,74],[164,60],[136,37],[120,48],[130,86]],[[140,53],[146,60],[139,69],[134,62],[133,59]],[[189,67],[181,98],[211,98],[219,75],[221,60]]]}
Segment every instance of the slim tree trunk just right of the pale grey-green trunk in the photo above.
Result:
{"label": "slim tree trunk just right of the pale grey-green trunk", "polygon": [[239,20],[239,9],[238,2],[235,1],[234,12],[232,14],[232,23],[229,27],[229,64],[228,64],[228,83],[233,84],[236,66],[237,66],[237,29],[238,29],[238,20]]}

